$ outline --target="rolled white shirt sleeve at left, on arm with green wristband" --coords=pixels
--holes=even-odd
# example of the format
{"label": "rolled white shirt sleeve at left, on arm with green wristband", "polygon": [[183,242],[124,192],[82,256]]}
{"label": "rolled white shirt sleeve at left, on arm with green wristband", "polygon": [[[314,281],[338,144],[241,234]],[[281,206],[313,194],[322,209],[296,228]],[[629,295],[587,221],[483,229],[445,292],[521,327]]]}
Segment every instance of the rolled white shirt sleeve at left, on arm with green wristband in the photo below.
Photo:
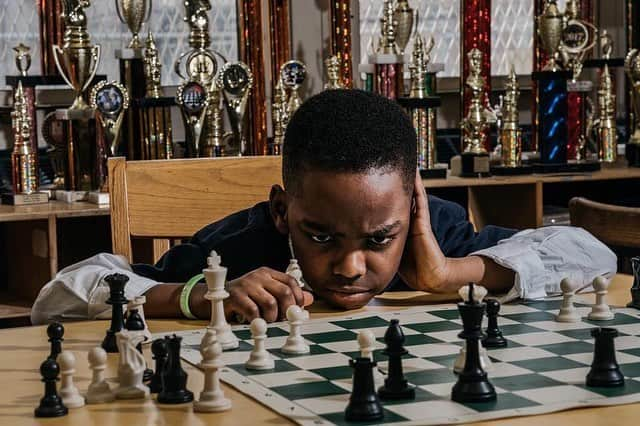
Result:
{"label": "rolled white shirt sleeve at left, on arm with green wristband", "polygon": [[129,300],[158,284],[133,273],[124,256],[97,254],[64,268],[40,290],[31,308],[31,323],[110,318],[111,306],[105,303],[109,286],[104,277],[116,272],[129,277],[125,286]]}

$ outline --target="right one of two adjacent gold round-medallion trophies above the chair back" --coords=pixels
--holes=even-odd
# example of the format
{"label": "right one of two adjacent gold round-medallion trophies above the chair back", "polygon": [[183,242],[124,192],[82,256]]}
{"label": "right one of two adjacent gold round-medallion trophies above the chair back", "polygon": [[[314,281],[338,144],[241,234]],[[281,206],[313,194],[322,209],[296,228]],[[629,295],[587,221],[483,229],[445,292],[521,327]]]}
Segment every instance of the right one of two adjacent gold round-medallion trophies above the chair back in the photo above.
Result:
{"label": "right one of two adjacent gold round-medallion trophies above the chair back", "polygon": [[247,152],[244,116],[247,110],[247,101],[253,88],[253,74],[243,62],[228,62],[218,74],[217,85],[222,90],[234,136],[234,145],[228,145],[225,150],[239,156],[244,155]]}

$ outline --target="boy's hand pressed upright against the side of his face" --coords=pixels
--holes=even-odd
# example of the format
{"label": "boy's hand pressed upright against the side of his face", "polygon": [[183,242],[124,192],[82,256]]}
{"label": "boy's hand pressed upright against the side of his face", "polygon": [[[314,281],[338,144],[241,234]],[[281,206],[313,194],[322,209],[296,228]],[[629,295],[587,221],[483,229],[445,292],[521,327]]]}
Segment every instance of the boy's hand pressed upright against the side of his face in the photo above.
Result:
{"label": "boy's hand pressed upright against the side of his face", "polygon": [[416,171],[409,234],[398,273],[413,289],[442,293],[448,288],[449,261],[442,253],[429,216],[427,192],[420,173]]}

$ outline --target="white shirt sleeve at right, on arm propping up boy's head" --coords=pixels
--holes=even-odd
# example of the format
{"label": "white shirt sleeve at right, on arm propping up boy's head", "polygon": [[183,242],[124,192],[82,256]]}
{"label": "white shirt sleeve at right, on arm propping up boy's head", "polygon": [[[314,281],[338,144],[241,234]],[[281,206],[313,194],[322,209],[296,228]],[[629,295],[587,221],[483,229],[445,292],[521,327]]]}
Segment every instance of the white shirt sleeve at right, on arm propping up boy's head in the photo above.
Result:
{"label": "white shirt sleeve at right, on arm propping up boy's head", "polygon": [[597,276],[612,278],[616,255],[582,228],[548,226],[527,229],[496,246],[476,251],[515,272],[511,290],[502,298],[538,299],[561,293],[560,281],[572,278],[580,289],[589,289]]}

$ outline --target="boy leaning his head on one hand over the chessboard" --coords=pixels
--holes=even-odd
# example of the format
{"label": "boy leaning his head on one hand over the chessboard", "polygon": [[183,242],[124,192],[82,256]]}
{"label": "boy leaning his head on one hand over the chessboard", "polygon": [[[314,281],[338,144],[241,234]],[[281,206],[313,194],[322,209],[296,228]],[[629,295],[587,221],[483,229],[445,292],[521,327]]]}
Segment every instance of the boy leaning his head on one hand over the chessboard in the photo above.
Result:
{"label": "boy leaning his head on one hand over the chessboard", "polygon": [[121,258],[101,255],[61,271],[34,304],[33,322],[108,311],[102,278],[119,269],[132,277],[127,297],[146,295],[147,316],[206,318],[206,286],[183,283],[211,250],[228,268],[226,314],[247,320],[281,319],[309,299],[283,272],[292,257],[315,296],[344,309],[385,290],[455,292],[468,282],[509,299],[544,297],[565,276],[586,286],[615,273],[615,255],[578,228],[474,232],[462,207],[426,195],[410,120],[374,94],[331,90],[307,100],[287,127],[282,173],[284,188],[274,185],[268,202],[205,227],[156,266],[133,265],[132,274]]}

